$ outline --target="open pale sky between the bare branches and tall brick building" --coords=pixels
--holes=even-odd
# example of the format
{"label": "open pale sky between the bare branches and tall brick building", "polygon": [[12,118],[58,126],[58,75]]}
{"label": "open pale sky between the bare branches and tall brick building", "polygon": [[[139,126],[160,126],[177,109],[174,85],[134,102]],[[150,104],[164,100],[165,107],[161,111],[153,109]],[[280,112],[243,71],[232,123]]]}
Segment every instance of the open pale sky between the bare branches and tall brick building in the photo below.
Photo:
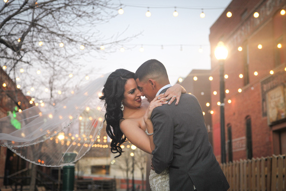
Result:
{"label": "open pale sky between the bare branches and tall brick building", "polygon": [[[87,67],[96,69],[98,74],[112,72],[118,68],[135,72],[143,62],[157,59],[165,65],[171,84],[176,83],[179,77],[187,76],[193,69],[211,69],[210,27],[231,0],[113,0],[113,2],[146,8],[126,6],[123,8],[124,14],[116,16],[97,29],[106,37],[122,33],[126,28],[128,29],[123,37],[141,32],[142,35],[124,44],[124,47],[133,47],[125,49],[124,52],[118,47],[115,53],[105,55],[104,59],[86,57],[82,62]],[[177,17],[173,16],[175,6],[179,13]],[[150,7],[151,17],[145,16],[147,7]],[[200,17],[202,8],[206,14],[205,18]],[[143,52],[139,51],[141,44]],[[199,53],[200,46],[203,48],[202,53]],[[95,73],[91,78],[96,78],[98,74]]]}

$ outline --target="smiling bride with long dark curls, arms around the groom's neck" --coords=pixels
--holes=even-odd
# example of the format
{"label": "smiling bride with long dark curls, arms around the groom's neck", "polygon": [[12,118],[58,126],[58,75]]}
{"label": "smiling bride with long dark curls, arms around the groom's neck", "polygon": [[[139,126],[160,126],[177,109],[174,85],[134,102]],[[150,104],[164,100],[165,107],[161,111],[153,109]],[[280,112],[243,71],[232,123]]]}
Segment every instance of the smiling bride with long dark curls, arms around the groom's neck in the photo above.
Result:
{"label": "smiling bride with long dark curls, arms around the groom's neck", "polygon": [[[186,93],[179,84],[169,88],[165,94],[160,94],[149,104],[147,99],[141,99],[142,93],[138,89],[134,79],[134,73],[118,69],[111,73],[104,85],[103,96],[105,100],[107,122],[107,135],[112,139],[111,152],[122,154],[121,145],[128,139],[133,145],[142,151],[152,154],[154,143],[152,141],[153,132],[150,115],[152,110],[163,104],[171,104],[177,98],[179,103],[181,93]],[[170,99],[171,98],[171,99]],[[153,170],[150,172],[149,183],[152,191],[170,190],[168,169],[160,175]]]}

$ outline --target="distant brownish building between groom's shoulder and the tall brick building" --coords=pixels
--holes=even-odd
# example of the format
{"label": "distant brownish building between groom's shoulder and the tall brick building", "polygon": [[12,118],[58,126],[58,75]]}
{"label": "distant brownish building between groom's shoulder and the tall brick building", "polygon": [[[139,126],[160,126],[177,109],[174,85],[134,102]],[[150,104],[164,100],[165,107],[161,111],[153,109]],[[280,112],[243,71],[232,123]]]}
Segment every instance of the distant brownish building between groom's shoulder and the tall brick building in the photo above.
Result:
{"label": "distant brownish building between groom's shoulder and the tall brick building", "polygon": [[205,122],[209,133],[209,141],[213,145],[213,125],[211,115],[211,81],[210,70],[192,70],[188,76],[182,79],[181,84],[187,93],[191,93],[198,99],[203,114],[205,116]]}

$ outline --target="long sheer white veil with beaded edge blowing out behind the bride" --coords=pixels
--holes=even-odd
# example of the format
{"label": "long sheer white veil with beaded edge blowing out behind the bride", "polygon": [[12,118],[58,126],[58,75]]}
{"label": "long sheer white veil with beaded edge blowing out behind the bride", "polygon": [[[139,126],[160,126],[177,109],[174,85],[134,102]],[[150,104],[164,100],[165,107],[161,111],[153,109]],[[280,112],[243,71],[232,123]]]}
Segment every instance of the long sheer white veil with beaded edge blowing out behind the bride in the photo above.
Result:
{"label": "long sheer white veil with beaded edge blowing out behind the bride", "polygon": [[103,127],[105,108],[99,96],[109,74],[87,83],[54,107],[39,104],[1,118],[0,146],[42,166],[79,160]]}

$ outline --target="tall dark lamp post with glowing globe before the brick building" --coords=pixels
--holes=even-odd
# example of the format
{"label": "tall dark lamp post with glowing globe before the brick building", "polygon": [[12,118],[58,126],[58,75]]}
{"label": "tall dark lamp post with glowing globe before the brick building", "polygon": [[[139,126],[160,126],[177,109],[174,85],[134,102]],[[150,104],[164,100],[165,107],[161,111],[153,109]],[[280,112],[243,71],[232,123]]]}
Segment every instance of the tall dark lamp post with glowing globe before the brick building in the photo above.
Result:
{"label": "tall dark lamp post with glowing globe before the brick building", "polygon": [[222,41],[217,43],[214,49],[214,56],[219,63],[219,95],[220,95],[220,145],[221,145],[221,163],[226,162],[225,155],[225,132],[224,132],[224,61],[227,57],[228,51]]}

